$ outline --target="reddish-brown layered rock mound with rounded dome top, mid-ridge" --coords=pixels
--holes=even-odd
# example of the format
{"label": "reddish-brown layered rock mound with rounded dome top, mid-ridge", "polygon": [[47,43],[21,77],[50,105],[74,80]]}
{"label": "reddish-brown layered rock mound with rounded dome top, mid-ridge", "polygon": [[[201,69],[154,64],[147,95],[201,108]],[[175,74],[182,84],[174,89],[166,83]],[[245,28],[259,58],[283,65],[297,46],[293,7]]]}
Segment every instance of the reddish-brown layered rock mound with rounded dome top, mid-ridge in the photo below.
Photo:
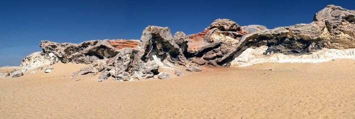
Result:
{"label": "reddish-brown layered rock mound with rounded dome top, mid-ridge", "polygon": [[224,54],[234,49],[243,35],[240,32],[240,26],[236,22],[230,19],[216,19],[203,32],[188,36],[185,56],[195,57],[190,59],[199,65],[204,64],[202,62],[217,62]]}

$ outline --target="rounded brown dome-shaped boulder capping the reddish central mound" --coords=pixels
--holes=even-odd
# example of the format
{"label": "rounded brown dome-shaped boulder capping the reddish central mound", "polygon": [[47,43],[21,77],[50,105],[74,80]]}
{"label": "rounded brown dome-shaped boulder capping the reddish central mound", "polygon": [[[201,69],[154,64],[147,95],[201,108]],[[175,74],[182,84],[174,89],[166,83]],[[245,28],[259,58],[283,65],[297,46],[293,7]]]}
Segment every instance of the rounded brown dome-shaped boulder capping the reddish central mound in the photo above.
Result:
{"label": "rounded brown dome-shaped boulder capping the reddish central mound", "polygon": [[218,18],[215,19],[207,28],[205,29],[212,29],[212,28],[218,28],[222,31],[237,31],[240,30],[240,26],[230,20],[230,19],[225,19],[225,18]]}

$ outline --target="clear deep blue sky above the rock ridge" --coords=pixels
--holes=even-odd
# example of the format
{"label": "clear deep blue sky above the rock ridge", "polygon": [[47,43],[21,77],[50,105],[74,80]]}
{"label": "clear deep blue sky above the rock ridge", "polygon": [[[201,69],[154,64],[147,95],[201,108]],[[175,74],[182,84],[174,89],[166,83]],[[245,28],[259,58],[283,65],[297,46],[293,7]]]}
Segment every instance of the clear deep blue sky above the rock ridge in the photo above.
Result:
{"label": "clear deep blue sky above the rock ridge", "polygon": [[216,18],[273,28],[309,23],[327,4],[355,9],[355,0],[0,0],[0,66],[19,65],[40,40],[139,39],[147,25],[191,34]]}

